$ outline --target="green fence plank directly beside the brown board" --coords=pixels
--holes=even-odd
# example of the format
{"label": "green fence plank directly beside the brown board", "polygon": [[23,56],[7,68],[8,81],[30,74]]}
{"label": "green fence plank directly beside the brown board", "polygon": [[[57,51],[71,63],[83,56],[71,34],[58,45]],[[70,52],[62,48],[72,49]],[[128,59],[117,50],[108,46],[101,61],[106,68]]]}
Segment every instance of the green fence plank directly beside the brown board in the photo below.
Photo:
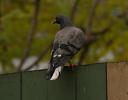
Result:
{"label": "green fence plank directly beside the brown board", "polygon": [[77,74],[77,100],[106,100],[106,64],[80,67]]}

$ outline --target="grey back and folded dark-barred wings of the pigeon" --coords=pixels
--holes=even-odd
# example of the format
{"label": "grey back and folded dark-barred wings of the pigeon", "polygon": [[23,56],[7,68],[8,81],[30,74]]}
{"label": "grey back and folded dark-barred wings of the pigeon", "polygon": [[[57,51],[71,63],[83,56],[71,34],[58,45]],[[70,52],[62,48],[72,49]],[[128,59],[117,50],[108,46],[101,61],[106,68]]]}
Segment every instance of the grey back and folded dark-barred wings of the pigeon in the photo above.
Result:
{"label": "grey back and folded dark-barred wings of the pigeon", "polygon": [[64,66],[84,45],[85,35],[76,27],[67,27],[55,36],[51,64]]}

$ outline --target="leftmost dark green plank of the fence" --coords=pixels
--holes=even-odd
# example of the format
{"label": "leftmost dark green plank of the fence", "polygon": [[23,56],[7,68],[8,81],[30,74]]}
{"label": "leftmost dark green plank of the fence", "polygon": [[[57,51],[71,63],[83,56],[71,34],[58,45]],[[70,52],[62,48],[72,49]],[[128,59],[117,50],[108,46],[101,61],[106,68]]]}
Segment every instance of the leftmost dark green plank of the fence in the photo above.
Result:
{"label": "leftmost dark green plank of the fence", "polygon": [[20,100],[20,74],[0,75],[0,100]]}

